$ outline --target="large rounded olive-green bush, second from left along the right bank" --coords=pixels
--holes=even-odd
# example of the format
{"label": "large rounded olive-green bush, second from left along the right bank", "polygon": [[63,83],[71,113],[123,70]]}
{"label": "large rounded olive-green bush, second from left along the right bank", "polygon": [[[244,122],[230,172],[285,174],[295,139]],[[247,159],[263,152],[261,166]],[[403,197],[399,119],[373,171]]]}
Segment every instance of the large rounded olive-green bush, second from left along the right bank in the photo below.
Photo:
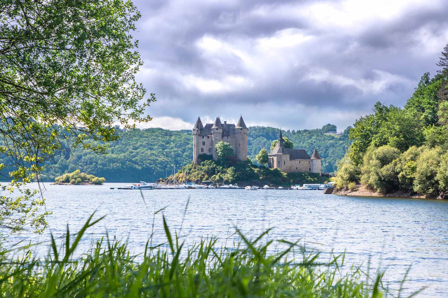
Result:
{"label": "large rounded olive-green bush, second from left along the right bank", "polygon": [[400,151],[390,145],[370,146],[361,167],[361,183],[382,193],[395,189],[398,178],[392,161],[399,155]]}

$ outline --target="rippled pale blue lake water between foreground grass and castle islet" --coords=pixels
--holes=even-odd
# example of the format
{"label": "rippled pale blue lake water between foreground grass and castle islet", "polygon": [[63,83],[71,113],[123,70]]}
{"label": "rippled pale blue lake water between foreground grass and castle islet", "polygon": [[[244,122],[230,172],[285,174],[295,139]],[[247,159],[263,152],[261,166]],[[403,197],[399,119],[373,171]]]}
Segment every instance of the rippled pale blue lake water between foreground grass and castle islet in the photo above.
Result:
{"label": "rippled pale blue lake water between foreground grass and castle islet", "polygon": [[[117,190],[122,184],[72,186],[45,184],[49,227],[43,235],[25,232],[10,236],[6,246],[19,239],[32,243],[61,236],[66,224],[77,231],[96,210],[106,217],[88,230],[79,252],[90,248],[92,239],[108,232],[124,239],[129,248],[142,252],[151,234],[163,243],[162,214],[186,243],[201,236],[231,239],[238,227],[249,238],[273,228],[269,239],[300,240],[309,250],[328,256],[346,251],[345,264],[371,260],[373,269],[386,271],[384,281],[395,283],[412,266],[407,292],[428,288],[417,297],[442,297],[448,293],[448,201],[324,195],[322,191],[235,189]],[[31,185],[37,187],[37,184]],[[187,201],[190,199],[188,208]],[[154,212],[166,207],[163,212]],[[47,244],[35,248],[47,251]]]}

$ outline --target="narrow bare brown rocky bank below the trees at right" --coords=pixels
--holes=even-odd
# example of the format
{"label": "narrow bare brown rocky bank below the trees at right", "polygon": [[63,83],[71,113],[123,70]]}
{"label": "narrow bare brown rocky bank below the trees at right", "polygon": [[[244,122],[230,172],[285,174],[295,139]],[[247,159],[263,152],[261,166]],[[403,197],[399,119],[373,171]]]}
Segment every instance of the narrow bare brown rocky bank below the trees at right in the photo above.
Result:
{"label": "narrow bare brown rocky bank below the trees at right", "polygon": [[411,193],[405,191],[396,191],[392,193],[379,193],[375,190],[367,189],[364,185],[357,185],[356,189],[349,190],[343,188],[340,190],[326,189],[326,194],[337,194],[340,196],[358,196],[358,197],[408,197],[408,198],[420,198],[420,199],[448,199],[448,194],[441,193],[438,197],[429,197],[421,193]]}

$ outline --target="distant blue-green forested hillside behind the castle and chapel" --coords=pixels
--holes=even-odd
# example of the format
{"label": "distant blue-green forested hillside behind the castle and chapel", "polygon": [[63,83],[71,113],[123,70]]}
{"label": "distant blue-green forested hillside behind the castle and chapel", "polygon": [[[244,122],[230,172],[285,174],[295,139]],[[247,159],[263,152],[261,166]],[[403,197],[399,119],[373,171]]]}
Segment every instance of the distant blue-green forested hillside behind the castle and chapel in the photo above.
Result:
{"label": "distant blue-green forested hillside behind the castle and chapel", "polygon": [[[317,147],[323,159],[323,172],[333,172],[336,159],[341,159],[350,145],[348,130],[340,136],[324,134],[336,126],[323,129],[284,131],[295,148],[311,154]],[[121,138],[109,143],[108,154],[99,155],[78,147],[70,153],[56,155],[53,164],[43,171],[43,179],[54,181],[56,176],[77,169],[106,178],[106,182],[155,181],[172,174],[192,160],[193,136],[191,130],[164,130],[161,128],[118,130]],[[255,155],[278,139],[279,130],[273,127],[249,127],[248,155],[256,162]],[[1,160],[0,160],[1,162]],[[7,164],[7,163],[5,163]],[[165,172],[166,171],[166,172]]]}

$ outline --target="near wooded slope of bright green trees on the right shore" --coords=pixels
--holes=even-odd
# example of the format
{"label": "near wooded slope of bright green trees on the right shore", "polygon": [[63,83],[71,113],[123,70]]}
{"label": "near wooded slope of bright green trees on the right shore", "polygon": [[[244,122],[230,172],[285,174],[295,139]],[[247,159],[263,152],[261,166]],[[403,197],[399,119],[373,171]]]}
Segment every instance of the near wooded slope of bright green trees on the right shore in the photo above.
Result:
{"label": "near wooded slope of bright green trees on the right shore", "polygon": [[380,102],[359,118],[338,165],[337,186],[448,198],[448,44],[436,76],[425,73],[403,109]]}

